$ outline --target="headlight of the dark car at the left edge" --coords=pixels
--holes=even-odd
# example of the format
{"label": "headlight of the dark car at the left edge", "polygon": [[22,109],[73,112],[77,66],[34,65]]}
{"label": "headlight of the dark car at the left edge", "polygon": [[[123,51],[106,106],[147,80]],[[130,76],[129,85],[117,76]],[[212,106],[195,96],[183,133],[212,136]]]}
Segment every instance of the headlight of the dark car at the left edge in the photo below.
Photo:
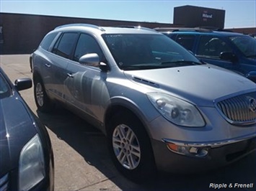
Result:
{"label": "headlight of the dark car at the left edge", "polygon": [[45,177],[45,161],[39,136],[35,135],[19,156],[19,190],[30,190]]}

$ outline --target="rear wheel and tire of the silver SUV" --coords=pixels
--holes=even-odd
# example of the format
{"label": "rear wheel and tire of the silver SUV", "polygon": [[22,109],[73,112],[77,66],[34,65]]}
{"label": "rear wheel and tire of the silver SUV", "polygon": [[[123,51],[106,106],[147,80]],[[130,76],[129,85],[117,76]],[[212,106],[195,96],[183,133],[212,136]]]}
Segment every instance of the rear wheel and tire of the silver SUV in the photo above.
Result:
{"label": "rear wheel and tire of the silver SUV", "polygon": [[49,113],[53,110],[53,103],[45,92],[45,86],[40,78],[34,79],[34,98],[37,109],[43,113]]}

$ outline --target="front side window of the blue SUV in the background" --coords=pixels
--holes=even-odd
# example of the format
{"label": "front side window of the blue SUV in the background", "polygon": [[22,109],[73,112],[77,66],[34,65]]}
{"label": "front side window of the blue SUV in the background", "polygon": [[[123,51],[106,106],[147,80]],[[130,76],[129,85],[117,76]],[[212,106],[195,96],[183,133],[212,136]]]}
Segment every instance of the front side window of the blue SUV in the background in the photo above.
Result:
{"label": "front side window of the blue SUV in the background", "polygon": [[213,36],[201,36],[197,55],[219,58],[221,52],[232,52],[231,47],[222,39]]}

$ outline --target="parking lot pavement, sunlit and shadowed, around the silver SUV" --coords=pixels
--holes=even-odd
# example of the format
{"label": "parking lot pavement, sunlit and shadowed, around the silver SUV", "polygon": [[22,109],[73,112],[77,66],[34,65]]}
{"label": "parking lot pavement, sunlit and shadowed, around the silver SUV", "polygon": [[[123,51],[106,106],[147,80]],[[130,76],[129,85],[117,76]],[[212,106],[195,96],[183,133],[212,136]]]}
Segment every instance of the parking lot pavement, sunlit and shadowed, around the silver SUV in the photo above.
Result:
{"label": "parking lot pavement, sunlit and shadowed, around the silver SUV", "polygon": [[[29,56],[1,55],[0,65],[12,82],[17,78],[32,78]],[[219,186],[225,185],[227,190],[256,190],[255,152],[221,169],[188,175],[161,173],[156,180],[138,185],[115,169],[106,138],[100,131],[61,107],[50,114],[38,112],[32,88],[20,93],[50,134],[55,190],[219,190]],[[253,185],[239,188],[236,183]]]}

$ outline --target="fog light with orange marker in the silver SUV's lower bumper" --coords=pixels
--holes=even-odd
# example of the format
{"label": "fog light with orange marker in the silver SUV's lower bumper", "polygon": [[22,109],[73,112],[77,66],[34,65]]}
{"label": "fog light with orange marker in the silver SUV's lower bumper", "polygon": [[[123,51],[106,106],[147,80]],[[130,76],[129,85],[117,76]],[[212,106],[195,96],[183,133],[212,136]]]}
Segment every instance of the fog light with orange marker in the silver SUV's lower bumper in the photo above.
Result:
{"label": "fog light with orange marker in the silver SUV's lower bumper", "polygon": [[207,147],[180,146],[169,142],[167,142],[167,147],[172,152],[190,157],[206,157],[208,154]]}

